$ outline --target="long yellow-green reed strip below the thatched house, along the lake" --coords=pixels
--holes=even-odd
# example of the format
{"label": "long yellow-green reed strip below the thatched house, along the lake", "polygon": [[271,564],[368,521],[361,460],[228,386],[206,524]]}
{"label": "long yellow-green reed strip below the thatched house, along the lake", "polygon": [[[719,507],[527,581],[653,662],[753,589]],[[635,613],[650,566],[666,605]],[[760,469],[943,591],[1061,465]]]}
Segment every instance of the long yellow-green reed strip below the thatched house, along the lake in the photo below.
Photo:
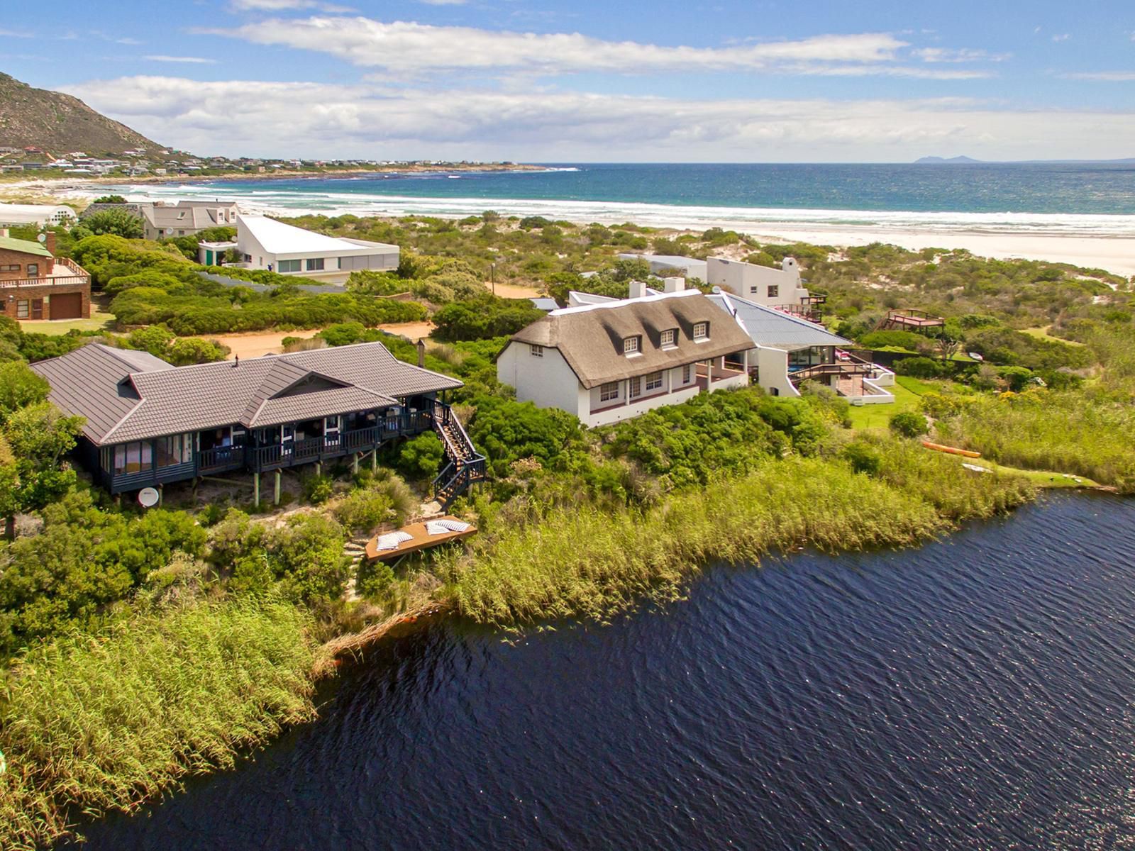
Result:
{"label": "long yellow-green reed strip below the thatched house, along the lake", "polygon": [[681,593],[709,562],[758,561],[805,545],[825,551],[909,546],[1034,492],[1017,477],[923,462],[902,441],[889,445],[896,456],[877,478],[838,460],[789,458],[672,495],[645,512],[549,509],[452,561],[449,590],[459,612],[480,623],[604,620],[645,595]]}

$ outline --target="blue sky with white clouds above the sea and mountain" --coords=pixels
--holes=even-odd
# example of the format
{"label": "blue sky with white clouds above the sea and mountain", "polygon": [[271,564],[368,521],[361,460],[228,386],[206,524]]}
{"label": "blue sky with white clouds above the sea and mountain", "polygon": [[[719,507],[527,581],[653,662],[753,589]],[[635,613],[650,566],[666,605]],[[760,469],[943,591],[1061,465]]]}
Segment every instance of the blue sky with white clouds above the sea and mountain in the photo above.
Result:
{"label": "blue sky with white clouds above the sea and mountain", "polygon": [[1133,0],[0,0],[0,70],[199,154],[1135,157]]}

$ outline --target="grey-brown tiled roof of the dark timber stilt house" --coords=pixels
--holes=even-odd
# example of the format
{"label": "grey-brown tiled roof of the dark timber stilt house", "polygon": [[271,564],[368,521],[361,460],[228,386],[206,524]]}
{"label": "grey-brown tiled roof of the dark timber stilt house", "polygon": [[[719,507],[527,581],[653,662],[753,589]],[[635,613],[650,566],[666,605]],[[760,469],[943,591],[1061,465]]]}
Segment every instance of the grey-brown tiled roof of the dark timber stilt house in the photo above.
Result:
{"label": "grey-brown tiled roof of the dark timber stilt house", "polygon": [[[33,366],[51,382],[52,402],[87,418],[85,435],[96,444],[329,416],[461,386],[403,363],[381,343],[176,369],[144,353],[129,353],[133,364],[119,355],[107,346],[85,346]],[[150,370],[137,369],[143,361]]]}

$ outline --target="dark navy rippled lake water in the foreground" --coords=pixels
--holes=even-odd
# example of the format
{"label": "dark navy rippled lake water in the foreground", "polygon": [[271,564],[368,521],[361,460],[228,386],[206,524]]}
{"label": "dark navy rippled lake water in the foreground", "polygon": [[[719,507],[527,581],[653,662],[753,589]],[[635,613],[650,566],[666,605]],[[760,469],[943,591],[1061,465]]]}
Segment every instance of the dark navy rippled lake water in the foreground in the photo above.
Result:
{"label": "dark navy rippled lake water in the foreground", "polygon": [[89,831],[124,849],[1135,844],[1135,500],[715,567],[515,643],[371,651],[319,722]]}

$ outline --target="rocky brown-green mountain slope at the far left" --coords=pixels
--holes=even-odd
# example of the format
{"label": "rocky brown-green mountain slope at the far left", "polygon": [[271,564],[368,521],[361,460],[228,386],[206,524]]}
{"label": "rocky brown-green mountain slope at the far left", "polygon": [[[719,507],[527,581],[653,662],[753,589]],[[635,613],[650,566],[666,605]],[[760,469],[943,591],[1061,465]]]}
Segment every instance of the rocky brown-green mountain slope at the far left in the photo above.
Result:
{"label": "rocky brown-green mountain slope at the far left", "polygon": [[0,74],[0,146],[28,145],[53,154],[84,151],[91,155],[163,148],[125,124],[95,112],[78,98],[33,89]]}

